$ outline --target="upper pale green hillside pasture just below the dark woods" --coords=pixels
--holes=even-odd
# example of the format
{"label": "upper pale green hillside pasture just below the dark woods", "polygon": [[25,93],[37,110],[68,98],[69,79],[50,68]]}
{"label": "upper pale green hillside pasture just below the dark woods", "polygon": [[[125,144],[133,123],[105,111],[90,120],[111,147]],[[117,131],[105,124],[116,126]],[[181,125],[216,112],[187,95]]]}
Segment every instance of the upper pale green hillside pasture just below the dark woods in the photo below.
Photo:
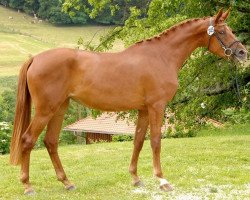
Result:
{"label": "upper pale green hillside pasture just below the dark woods", "polygon": [[[9,19],[9,16],[12,19]],[[32,16],[0,6],[0,28],[29,35],[56,46],[72,47],[76,45],[79,37],[83,37],[84,40],[88,41],[95,33],[97,33],[97,39],[98,36],[109,29],[107,26],[53,26],[45,21],[31,23],[33,20]]]}

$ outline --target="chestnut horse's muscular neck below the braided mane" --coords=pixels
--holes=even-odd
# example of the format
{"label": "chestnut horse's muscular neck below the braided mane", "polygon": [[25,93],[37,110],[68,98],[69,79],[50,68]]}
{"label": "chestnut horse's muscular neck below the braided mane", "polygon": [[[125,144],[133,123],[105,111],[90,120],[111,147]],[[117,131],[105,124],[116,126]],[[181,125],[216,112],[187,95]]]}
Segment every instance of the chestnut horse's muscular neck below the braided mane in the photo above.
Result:
{"label": "chestnut horse's muscular neck below the braided mane", "polygon": [[208,37],[206,29],[208,19],[189,21],[162,34],[160,53],[165,63],[175,66],[178,70],[191,53],[201,46],[206,46]]}

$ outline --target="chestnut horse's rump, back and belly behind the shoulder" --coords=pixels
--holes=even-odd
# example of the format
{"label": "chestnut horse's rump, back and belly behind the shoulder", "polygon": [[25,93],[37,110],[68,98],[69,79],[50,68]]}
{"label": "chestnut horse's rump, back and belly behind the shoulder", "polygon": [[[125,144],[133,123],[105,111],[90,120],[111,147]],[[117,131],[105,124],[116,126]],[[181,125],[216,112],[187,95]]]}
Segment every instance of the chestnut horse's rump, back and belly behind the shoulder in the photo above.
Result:
{"label": "chestnut horse's rump, back and belly behind the shoulder", "polygon": [[66,48],[40,53],[28,70],[31,96],[56,103],[70,97],[102,110],[138,108],[143,104],[138,73],[122,57]]}

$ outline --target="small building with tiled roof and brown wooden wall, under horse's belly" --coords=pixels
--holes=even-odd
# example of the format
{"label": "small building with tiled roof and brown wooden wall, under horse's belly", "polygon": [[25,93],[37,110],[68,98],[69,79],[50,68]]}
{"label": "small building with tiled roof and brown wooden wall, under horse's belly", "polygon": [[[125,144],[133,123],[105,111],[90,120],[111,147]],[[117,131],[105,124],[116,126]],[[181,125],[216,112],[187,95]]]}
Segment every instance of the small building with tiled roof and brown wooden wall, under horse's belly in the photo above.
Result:
{"label": "small building with tiled roof and brown wooden wall, under horse's belly", "polygon": [[91,144],[99,141],[111,142],[113,135],[134,135],[135,128],[133,122],[117,120],[115,114],[102,114],[96,119],[81,119],[63,130],[73,132],[78,140],[82,140],[80,136],[84,133],[86,144]]}

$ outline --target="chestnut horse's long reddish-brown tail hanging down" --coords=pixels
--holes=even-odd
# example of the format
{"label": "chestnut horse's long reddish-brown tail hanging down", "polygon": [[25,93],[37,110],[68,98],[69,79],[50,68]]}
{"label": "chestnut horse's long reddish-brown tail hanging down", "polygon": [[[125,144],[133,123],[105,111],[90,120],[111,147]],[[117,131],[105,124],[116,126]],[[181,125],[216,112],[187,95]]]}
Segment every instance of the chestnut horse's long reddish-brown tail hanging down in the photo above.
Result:
{"label": "chestnut horse's long reddish-brown tail hanging down", "polygon": [[22,160],[21,137],[30,123],[31,97],[27,85],[27,71],[32,61],[33,58],[30,58],[28,61],[26,61],[23,64],[19,74],[16,113],[10,144],[10,163],[13,165],[20,164]]}

